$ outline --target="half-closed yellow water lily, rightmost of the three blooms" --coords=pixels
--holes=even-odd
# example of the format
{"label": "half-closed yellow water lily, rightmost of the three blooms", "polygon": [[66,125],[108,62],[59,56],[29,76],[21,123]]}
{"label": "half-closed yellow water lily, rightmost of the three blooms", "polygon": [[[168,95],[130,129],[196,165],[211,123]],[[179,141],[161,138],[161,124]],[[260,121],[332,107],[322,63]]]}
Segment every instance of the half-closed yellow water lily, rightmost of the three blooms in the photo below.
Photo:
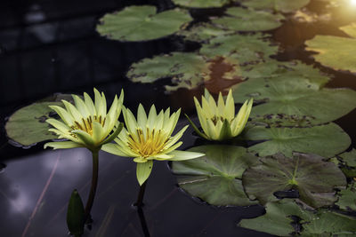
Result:
{"label": "half-closed yellow water lily, rightmost of the three blooms", "polygon": [[214,98],[207,90],[205,91],[205,96],[201,97],[201,106],[195,97],[194,103],[197,108],[200,126],[204,132],[198,130],[197,126],[191,122],[188,116],[187,118],[198,135],[208,140],[226,140],[237,137],[244,130],[254,100],[247,99],[236,116],[235,102],[232,98],[231,90],[226,99],[226,104],[223,101],[222,92],[219,93],[216,105]]}

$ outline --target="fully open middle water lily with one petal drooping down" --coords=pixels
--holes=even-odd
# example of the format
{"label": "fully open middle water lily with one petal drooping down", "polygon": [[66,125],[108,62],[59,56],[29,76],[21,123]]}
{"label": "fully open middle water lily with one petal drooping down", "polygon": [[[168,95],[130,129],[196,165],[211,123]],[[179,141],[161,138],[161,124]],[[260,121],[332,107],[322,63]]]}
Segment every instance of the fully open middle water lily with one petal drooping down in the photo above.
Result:
{"label": "fully open middle water lily with one petal drooping down", "polygon": [[119,156],[133,157],[137,162],[137,179],[140,186],[150,176],[153,162],[183,161],[194,159],[204,154],[177,151],[182,145],[178,140],[188,125],[171,136],[178,122],[181,109],[170,115],[170,109],[161,110],[157,115],[156,107],[150,107],[149,116],[146,115],[142,105],[137,110],[137,121],[130,109],[123,108],[125,128],[115,139],[117,144],[106,144],[102,150]]}

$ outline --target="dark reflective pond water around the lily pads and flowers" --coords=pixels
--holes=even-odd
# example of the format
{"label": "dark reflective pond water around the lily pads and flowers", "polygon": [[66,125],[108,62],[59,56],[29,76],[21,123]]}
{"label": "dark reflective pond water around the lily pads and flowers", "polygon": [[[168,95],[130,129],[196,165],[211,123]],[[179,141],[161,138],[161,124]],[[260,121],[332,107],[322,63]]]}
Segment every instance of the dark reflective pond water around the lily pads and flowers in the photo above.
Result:
{"label": "dark reflective pond water around the lily pads and flowers", "polygon": [[[159,11],[174,6],[171,1],[28,1],[7,4],[0,10],[0,235],[68,236],[69,196],[77,188],[86,201],[92,178],[91,154],[84,148],[53,151],[44,150],[44,142],[19,147],[8,141],[4,123],[20,107],[55,92],[92,93],[93,87],[104,91],[112,101],[124,88],[125,107],[136,110],[139,103],[146,108],[151,104],[158,109],[171,107],[173,111],[182,107],[182,115],[196,118],[193,97],[203,93],[203,86],[168,93],[164,86],[171,83],[169,78],[156,83],[132,83],[125,75],[134,62],[172,51],[194,51],[199,43],[186,42],[182,36],[122,43],[101,37],[95,31],[105,13],[133,4],[156,5]],[[321,14],[328,11],[325,5],[315,0],[306,9]],[[334,11],[336,20],[328,23],[287,19],[280,28],[268,31],[271,41],[280,43],[280,52],[272,58],[314,64],[334,76],[327,87],[356,90],[355,75],[323,67],[314,61],[312,52],[304,51],[305,40],[316,35],[345,36],[337,28],[356,18]],[[206,21],[209,15],[223,15],[223,9],[191,10],[190,14],[195,22]],[[216,89],[222,84],[210,86]],[[336,120],[352,140],[348,151],[355,147],[355,119],[353,110]],[[181,116],[177,127],[187,123]],[[206,144],[197,140],[191,127],[182,141],[182,149]],[[239,144],[247,146],[245,142]],[[133,207],[139,192],[135,169],[131,158],[100,153],[93,224],[91,230],[85,228],[84,236],[147,236],[145,225],[151,236],[271,236],[238,226],[243,218],[263,215],[262,205],[216,207],[191,197],[177,185],[167,162],[155,162],[141,212]],[[354,214],[355,210],[352,211]]]}

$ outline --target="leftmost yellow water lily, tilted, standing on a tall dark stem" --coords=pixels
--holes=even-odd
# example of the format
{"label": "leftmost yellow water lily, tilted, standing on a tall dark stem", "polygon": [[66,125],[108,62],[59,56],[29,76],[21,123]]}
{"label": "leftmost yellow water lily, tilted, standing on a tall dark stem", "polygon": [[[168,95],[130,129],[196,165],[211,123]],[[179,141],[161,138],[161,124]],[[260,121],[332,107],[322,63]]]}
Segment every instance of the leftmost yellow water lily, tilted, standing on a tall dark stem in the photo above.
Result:
{"label": "leftmost yellow water lily, tilted, standing on a tall dark stem", "polygon": [[115,96],[108,113],[104,93],[94,89],[94,95],[95,103],[87,93],[84,93],[84,100],[77,95],[72,95],[75,105],[62,100],[65,108],[51,106],[60,115],[62,122],[52,118],[47,119],[46,122],[54,127],[50,131],[59,135],[59,138],[66,138],[69,141],[49,142],[44,145],[44,148],[47,146],[54,149],[86,147],[92,152],[97,152],[103,144],[117,137],[122,129],[121,123],[117,125],[117,119],[121,113],[124,92],[121,91],[119,99]]}

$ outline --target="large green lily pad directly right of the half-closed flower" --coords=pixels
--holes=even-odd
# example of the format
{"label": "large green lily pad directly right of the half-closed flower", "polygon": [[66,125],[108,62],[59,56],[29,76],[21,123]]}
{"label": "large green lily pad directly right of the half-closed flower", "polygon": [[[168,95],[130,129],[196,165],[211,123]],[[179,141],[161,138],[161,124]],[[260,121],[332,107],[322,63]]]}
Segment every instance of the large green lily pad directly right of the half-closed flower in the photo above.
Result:
{"label": "large green lily pad directly right of the half-closed flower", "polygon": [[356,91],[321,89],[303,77],[250,78],[234,86],[235,102],[253,97],[266,102],[252,109],[250,117],[269,124],[305,126],[334,121],[356,107]]}

